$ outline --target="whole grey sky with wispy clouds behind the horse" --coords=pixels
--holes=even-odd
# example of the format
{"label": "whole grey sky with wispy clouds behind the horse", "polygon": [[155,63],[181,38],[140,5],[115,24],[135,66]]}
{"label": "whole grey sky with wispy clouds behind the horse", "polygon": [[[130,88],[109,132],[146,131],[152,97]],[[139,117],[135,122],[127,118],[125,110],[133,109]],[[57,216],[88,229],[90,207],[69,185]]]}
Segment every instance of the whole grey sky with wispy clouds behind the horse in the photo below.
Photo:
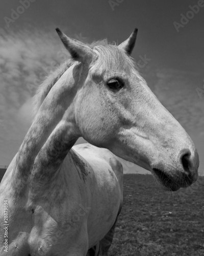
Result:
{"label": "whole grey sky with wispy clouds behind the horse", "polygon": [[[202,2],[1,1],[0,165],[9,165],[31,125],[36,88],[68,57],[55,28],[84,42],[107,38],[120,44],[137,27],[132,57],[149,88],[193,139],[204,175]],[[125,173],[148,173],[126,161],[123,166]]]}

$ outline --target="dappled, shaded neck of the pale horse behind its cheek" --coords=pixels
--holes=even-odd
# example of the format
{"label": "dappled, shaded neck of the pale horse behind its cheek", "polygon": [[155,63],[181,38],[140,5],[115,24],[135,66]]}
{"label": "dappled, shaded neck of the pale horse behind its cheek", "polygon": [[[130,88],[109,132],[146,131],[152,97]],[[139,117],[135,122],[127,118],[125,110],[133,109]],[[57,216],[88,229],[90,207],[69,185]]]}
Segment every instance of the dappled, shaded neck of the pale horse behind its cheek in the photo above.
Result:
{"label": "dappled, shaded neck of the pale horse behind its cheek", "polygon": [[18,151],[13,180],[21,192],[28,182],[49,182],[79,137],[71,121],[75,94],[65,78],[45,98]]}

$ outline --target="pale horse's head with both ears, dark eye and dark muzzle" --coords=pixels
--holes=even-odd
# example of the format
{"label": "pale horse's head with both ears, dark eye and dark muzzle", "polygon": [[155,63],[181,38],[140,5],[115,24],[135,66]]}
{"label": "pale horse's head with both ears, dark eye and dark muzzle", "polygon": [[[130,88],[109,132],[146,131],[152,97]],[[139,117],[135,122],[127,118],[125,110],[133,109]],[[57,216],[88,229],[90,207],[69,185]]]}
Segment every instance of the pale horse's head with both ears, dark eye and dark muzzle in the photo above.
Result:
{"label": "pale horse's head with both ears, dark eye and dark muzzle", "polygon": [[137,30],[119,46],[95,47],[57,32],[81,63],[74,106],[80,135],[150,170],[168,189],[195,182],[199,160],[191,138],[147,87],[130,57]]}

